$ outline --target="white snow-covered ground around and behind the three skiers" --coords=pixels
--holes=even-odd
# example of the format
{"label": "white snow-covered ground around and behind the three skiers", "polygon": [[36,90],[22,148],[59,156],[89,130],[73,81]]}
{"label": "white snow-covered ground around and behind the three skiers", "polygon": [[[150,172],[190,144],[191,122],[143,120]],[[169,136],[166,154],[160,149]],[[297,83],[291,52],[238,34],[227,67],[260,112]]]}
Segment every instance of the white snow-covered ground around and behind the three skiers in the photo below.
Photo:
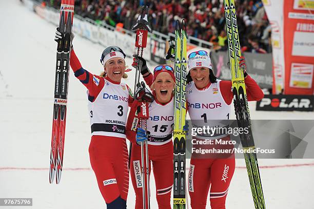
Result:
{"label": "white snow-covered ground around and behind the three skiers", "polygon": [[[63,177],[60,185],[49,184],[55,26],[17,0],[0,1],[0,8],[0,198],[33,198],[32,208],[105,208],[89,163],[86,89],[72,72]],[[86,69],[102,71],[102,46],[80,36],[73,45]],[[131,59],[127,64],[131,65]],[[126,80],[131,87],[133,73]],[[314,119],[314,112],[257,112],[253,102],[250,107],[252,119]],[[267,208],[314,208],[313,159],[261,159],[259,164]],[[263,168],[266,165],[275,166]],[[244,166],[244,160],[238,159],[227,208],[254,207]],[[152,208],[157,208],[153,178],[151,191]],[[134,201],[130,182],[128,208],[134,208]]]}

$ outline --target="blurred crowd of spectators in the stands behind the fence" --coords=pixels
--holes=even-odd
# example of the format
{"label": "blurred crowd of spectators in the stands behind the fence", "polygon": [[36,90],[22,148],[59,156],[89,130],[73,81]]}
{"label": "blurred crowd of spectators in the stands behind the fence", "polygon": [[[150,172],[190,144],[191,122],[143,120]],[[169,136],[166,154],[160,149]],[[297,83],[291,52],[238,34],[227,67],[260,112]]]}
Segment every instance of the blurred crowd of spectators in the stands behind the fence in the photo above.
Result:
{"label": "blurred crowd of spectators in the stands behind the fence", "polygon": [[[61,0],[44,1],[55,8]],[[211,42],[214,50],[227,50],[223,0],[76,0],[75,13],[130,30],[143,5],[149,7],[153,30],[168,34],[175,21],[187,20],[187,34]],[[261,0],[235,0],[242,51],[269,53],[270,24]]]}

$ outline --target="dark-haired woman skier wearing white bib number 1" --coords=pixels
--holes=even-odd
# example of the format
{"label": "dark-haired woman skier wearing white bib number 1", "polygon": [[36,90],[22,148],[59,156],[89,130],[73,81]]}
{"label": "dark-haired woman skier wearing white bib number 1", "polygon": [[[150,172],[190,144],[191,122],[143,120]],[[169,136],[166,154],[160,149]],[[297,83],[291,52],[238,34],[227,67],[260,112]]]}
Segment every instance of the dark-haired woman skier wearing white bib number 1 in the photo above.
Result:
{"label": "dark-haired woman skier wearing white bib number 1", "polygon": [[[244,71],[246,92],[249,101],[261,100],[263,91],[246,73],[245,60],[240,59],[239,67]],[[186,101],[189,116],[193,123],[202,126],[227,127],[230,105],[233,99],[231,81],[221,81],[213,73],[211,60],[206,51],[194,51],[188,55]],[[194,124],[195,125],[195,124]],[[200,125],[200,124],[198,124]],[[220,134],[198,134],[196,140],[217,140],[229,142],[230,136]],[[194,145],[195,148],[230,149],[233,145]],[[188,177],[188,189],[193,209],[205,209],[210,188],[212,209],[225,208],[225,200],[235,167],[234,154],[199,155],[192,154]]]}

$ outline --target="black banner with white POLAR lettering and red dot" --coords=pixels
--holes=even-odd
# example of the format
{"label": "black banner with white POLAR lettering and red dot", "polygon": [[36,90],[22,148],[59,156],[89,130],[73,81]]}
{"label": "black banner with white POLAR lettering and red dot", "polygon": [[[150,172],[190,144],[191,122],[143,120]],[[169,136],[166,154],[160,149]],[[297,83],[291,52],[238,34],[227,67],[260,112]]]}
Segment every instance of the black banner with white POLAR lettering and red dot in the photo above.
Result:
{"label": "black banner with white POLAR lettering and red dot", "polygon": [[256,110],[265,111],[313,111],[312,95],[265,95],[257,102]]}

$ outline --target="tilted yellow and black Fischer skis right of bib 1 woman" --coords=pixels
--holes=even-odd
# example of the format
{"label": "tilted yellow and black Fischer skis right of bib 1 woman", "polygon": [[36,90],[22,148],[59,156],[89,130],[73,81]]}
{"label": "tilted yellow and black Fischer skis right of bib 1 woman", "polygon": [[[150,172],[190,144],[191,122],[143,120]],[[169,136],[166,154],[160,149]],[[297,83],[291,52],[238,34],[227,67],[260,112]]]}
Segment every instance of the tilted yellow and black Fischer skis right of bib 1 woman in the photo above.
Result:
{"label": "tilted yellow and black Fischer skis right of bib 1 woman", "polygon": [[[243,71],[239,68],[238,59],[241,56],[241,47],[239,41],[239,32],[237,25],[237,16],[235,13],[234,0],[225,0],[226,29],[229,47],[229,59],[231,68],[231,82],[233,92],[233,104],[238,126],[248,128],[248,134],[240,135],[243,149],[255,149],[250,114],[247,102],[246,88],[244,83]],[[244,154],[248,178],[251,187],[251,193],[254,206],[257,209],[265,208],[261,177],[259,172],[257,155],[255,153]]]}

